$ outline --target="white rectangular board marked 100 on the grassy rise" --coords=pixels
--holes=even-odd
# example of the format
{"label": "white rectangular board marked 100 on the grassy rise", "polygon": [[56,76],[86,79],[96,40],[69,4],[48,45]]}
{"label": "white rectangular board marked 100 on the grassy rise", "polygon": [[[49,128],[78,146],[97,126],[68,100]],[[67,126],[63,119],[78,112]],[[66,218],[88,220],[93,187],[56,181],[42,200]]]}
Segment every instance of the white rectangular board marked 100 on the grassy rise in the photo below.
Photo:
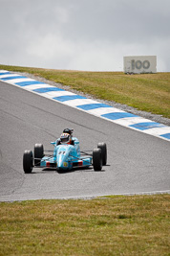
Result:
{"label": "white rectangular board marked 100 on the grassy rise", "polygon": [[124,57],[124,73],[157,73],[157,56]]}

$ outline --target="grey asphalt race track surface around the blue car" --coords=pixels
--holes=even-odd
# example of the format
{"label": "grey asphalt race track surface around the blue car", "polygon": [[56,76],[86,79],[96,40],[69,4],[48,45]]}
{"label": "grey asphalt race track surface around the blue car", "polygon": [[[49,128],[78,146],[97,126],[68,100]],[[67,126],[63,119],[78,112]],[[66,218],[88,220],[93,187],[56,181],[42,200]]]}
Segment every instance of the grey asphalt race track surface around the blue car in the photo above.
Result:
{"label": "grey asphalt race track surface around the blue car", "polygon": [[[106,142],[102,172],[80,169],[58,174],[34,169],[25,175],[22,156],[74,128],[81,150]],[[0,82],[0,200],[81,198],[170,191],[169,142]]]}

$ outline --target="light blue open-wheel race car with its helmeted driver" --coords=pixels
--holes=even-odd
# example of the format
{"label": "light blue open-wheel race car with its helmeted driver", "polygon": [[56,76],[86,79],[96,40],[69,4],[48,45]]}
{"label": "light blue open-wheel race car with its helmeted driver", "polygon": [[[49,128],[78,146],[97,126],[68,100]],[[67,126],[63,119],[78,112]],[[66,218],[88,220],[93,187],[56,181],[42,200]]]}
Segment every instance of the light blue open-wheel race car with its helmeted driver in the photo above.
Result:
{"label": "light blue open-wheel race car with its helmeted driver", "polygon": [[32,151],[24,152],[23,169],[26,174],[31,174],[33,167],[67,172],[74,168],[90,166],[93,166],[95,171],[101,171],[102,166],[106,165],[106,144],[98,143],[92,153],[80,151],[79,141],[73,137],[73,129],[65,128],[60,138],[51,144],[53,144],[54,150],[46,151],[47,153],[44,152],[42,144],[35,144],[33,153]]}

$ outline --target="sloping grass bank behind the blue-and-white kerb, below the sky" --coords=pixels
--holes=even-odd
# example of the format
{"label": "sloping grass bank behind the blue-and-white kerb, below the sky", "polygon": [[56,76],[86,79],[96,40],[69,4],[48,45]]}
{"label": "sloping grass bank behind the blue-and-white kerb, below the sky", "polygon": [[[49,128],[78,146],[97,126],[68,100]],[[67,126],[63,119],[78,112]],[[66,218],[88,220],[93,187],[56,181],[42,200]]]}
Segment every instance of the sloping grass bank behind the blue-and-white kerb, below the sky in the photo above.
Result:
{"label": "sloping grass bank behind the blue-and-white kerb, below the sky", "polygon": [[125,75],[122,72],[83,72],[0,65],[0,69],[28,72],[61,82],[96,99],[130,105],[170,118],[170,72]]}

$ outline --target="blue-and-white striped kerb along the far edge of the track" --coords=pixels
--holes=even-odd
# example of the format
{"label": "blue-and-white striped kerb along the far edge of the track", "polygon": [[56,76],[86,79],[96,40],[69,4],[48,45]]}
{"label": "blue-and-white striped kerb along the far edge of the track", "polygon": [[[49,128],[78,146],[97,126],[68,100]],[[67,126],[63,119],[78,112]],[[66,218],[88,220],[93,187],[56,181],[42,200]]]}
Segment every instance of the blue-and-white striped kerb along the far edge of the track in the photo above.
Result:
{"label": "blue-and-white striped kerb along the far edge of the track", "polygon": [[77,95],[73,92],[57,88],[42,81],[14,74],[7,70],[0,70],[0,81],[32,91],[38,95],[57,101],[63,105],[75,107],[81,111],[103,118],[117,125],[132,128],[161,139],[170,141],[170,127],[142,118],[111,105],[101,104],[95,100]]}

